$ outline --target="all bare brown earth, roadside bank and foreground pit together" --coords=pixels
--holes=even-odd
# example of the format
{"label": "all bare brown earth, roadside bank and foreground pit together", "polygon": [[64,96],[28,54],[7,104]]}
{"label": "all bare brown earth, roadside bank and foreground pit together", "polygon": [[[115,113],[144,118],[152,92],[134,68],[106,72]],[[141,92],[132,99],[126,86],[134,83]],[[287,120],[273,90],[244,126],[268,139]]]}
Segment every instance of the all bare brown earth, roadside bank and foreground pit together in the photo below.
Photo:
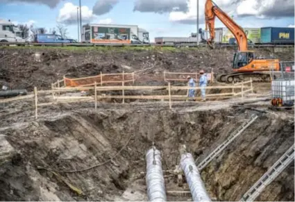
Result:
{"label": "all bare brown earth, roadside bank and foreground pit together", "polygon": [[[294,60],[294,49],[258,49]],[[233,49],[0,49],[0,84],[31,91],[62,78],[141,71],[135,85],[164,83],[162,71],[228,71]],[[35,60],[40,53],[40,61]],[[210,69],[211,70],[211,69]],[[267,94],[264,90],[263,94]],[[257,90],[254,90],[257,92]],[[126,91],[126,94],[128,92]],[[141,93],[141,92],[137,92]],[[261,95],[262,92],[254,94]],[[40,103],[48,98],[38,96]],[[252,114],[258,119],[201,172],[217,201],[237,201],[294,144],[294,110],[273,111],[269,100],[244,98],[206,103],[99,103],[93,100],[38,108],[33,99],[0,104],[1,201],[147,201],[145,153],[155,142],[164,170],[175,169],[178,149],[201,162]],[[269,97],[267,97],[269,99]],[[167,191],[178,187],[165,177]],[[167,194],[168,201],[191,200]],[[258,201],[294,201],[294,165]]]}

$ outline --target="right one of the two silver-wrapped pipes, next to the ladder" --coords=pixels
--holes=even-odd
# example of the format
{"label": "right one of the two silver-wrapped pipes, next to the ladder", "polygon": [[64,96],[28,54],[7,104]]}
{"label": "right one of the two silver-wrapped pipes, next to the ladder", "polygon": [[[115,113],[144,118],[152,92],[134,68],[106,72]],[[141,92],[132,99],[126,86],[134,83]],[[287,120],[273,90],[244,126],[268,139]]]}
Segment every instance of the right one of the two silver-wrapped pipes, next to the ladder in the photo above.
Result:
{"label": "right one of the two silver-wrapped pipes, next to the ladder", "polygon": [[183,153],[180,158],[180,166],[185,173],[189,190],[192,193],[193,201],[211,201],[208,196],[199,170],[194,164],[194,158],[190,153]]}

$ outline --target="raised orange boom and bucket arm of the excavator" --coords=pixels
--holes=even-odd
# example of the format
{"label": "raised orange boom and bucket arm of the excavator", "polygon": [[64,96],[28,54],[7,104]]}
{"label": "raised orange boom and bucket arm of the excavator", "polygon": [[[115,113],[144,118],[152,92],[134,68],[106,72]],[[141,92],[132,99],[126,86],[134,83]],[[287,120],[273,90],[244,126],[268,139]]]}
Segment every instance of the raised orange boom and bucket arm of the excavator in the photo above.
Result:
{"label": "raised orange boom and bucket arm of the excavator", "polygon": [[243,29],[236,24],[233,19],[231,19],[226,12],[221,10],[216,3],[212,0],[206,0],[205,3],[205,29],[210,33],[210,38],[208,39],[208,44],[212,47],[214,44],[214,23],[215,17],[218,17],[220,21],[235,35],[235,39],[237,40],[237,44],[239,46],[239,51],[248,51],[248,41],[246,37],[246,33],[244,33]]}

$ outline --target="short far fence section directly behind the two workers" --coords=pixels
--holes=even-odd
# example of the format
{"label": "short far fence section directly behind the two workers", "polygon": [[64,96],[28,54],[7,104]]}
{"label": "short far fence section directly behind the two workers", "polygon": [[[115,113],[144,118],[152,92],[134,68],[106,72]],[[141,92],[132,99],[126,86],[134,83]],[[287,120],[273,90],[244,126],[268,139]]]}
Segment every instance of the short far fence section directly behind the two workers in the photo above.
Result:
{"label": "short far fence section directly behind the two workers", "polygon": [[[165,82],[170,82],[170,81],[183,81],[183,82],[187,82],[187,76],[190,76],[192,78],[194,78],[194,80],[196,82],[199,81],[201,75],[199,72],[169,72],[169,71],[164,71],[164,81]],[[207,76],[207,80],[209,83],[214,83],[214,72],[211,71],[208,73],[205,73],[205,75]]]}

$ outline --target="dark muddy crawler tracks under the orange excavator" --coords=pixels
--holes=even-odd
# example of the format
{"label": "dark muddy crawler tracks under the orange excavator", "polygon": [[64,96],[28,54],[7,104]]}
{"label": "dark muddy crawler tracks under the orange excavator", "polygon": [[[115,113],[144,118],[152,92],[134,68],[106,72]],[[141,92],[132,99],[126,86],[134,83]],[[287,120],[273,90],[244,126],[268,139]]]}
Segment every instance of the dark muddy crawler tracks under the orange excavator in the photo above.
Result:
{"label": "dark muddy crawler tracks under the orange excavator", "polygon": [[[246,81],[252,78],[253,82],[269,83],[271,82],[271,75],[262,72],[239,72],[233,74],[219,74],[217,81],[221,83],[237,83]],[[276,78],[274,75],[273,78]]]}

